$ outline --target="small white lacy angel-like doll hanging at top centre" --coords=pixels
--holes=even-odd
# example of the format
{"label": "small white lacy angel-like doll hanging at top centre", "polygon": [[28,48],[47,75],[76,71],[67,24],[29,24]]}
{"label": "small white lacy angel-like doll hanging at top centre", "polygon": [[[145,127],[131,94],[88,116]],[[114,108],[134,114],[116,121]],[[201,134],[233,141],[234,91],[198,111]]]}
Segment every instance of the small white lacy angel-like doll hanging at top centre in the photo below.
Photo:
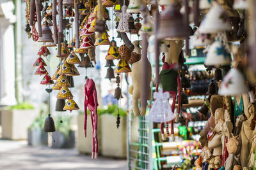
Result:
{"label": "small white lacy angel-like doll hanging at top centre", "polygon": [[126,12],[127,6],[123,5],[121,10],[122,13],[116,12],[116,16],[120,18],[120,22],[117,27],[118,32],[129,32],[128,19],[131,17],[131,14]]}

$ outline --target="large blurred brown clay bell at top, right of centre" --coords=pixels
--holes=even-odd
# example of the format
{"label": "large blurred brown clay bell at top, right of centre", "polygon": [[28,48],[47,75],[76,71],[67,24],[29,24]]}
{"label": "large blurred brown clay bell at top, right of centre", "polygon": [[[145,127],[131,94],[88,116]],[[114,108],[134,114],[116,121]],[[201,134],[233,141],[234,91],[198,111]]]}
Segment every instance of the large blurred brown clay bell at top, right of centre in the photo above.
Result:
{"label": "large blurred brown clay bell at top, right of centre", "polygon": [[[170,29],[171,28],[171,29]],[[166,6],[160,17],[159,31],[156,34],[157,39],[184,39],[191,33],[189,25],[186,25],[180,6],[171,4]]]}

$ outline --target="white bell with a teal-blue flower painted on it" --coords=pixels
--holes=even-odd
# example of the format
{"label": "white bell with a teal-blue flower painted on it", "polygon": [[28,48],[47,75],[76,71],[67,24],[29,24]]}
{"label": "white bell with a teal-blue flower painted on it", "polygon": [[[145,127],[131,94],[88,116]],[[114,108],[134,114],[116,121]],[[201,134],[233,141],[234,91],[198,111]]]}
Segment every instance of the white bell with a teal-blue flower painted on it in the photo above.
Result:
{"label": "white bell with a teal-blue flower painted on it", "polygon": [[215,41],[209,48],[204,61],[205,66],[228,66],[231,63],[231,56],[220,41]]}

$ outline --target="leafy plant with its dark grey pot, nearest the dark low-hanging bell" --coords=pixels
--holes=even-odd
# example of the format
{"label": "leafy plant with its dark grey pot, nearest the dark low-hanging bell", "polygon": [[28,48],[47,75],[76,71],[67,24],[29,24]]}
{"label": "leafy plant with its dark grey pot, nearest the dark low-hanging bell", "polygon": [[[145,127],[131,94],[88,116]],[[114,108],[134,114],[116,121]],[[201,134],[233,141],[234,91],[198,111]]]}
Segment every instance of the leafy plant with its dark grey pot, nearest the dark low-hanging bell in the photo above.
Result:
{"label": "leafy plant with its dark grey pot, nearest the dark low-hanging bell", "polygon": [[71,117],[63,121],[56,121],[55,125],[56,132],[52,133],[52,148],[73,148],[75,146],[75,132],[71,129]]}

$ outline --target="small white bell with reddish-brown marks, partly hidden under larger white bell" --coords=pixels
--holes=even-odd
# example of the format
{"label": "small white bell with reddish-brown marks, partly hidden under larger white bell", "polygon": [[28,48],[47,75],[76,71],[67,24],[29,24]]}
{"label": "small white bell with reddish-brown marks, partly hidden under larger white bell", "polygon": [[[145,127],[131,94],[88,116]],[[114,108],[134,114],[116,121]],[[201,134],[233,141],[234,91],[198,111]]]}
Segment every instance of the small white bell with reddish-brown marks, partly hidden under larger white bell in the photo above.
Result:
{"label": "small white bell with reddish-brown marks, partly hidden under larger white bell", "polygon": [[193,38],[193,46],[211,45],[213,42],[214,38],[212,38],[211,34],[201,34],[198,30],[196,30]]}

